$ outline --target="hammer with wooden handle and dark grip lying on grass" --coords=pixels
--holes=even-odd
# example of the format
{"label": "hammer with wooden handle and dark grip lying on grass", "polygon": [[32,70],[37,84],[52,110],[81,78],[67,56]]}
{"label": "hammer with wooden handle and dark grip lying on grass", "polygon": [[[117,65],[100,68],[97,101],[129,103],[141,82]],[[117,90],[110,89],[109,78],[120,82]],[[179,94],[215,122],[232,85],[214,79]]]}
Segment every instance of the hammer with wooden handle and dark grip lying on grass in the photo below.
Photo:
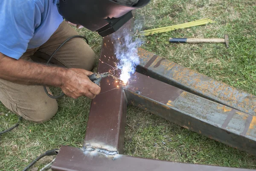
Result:
{"label": "hammer with wooden handle and dark grip lying on grass", "polygon": [[228,48],[229,38],[224,35],[224,38],[169,38],[170,43],[225,43]]}

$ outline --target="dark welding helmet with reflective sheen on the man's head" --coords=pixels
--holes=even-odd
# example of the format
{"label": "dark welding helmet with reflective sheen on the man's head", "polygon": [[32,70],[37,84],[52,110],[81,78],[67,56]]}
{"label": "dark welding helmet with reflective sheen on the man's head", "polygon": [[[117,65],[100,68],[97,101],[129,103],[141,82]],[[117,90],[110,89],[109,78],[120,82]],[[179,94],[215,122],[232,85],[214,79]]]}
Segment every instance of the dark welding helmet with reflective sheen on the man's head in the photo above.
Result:
{"label": "dark welding helmet with reflective sheen on the man's head", "polygon": [[59,0],[58,12],[65,20],[105,37],[130,20],[133,9],[140,9],[149,1],[139,0],[134,6],[125,6],[111,0]]}

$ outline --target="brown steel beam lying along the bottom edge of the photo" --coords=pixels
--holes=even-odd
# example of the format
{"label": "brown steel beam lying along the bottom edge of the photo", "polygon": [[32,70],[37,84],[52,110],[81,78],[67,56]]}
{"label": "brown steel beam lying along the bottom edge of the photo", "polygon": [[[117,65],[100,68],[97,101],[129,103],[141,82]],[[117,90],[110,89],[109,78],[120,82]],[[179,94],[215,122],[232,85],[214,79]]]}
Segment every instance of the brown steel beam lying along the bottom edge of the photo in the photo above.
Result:
{"label": "brown steel beam lying along the bottom edge of the photo", "polygon": [[106,156],[86,149],[61,147],[52,171],[251,171],[250,169],[197,165],[144,159],[121,154]]}

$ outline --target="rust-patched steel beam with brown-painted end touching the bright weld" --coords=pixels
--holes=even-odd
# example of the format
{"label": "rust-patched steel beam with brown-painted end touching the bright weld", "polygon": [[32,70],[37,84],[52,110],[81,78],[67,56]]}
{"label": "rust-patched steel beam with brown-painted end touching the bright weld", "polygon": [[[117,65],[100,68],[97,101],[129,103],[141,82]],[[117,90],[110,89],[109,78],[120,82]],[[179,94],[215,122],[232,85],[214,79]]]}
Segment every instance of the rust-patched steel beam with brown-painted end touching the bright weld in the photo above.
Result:
{"label": "rust-patched steel beam with brown-painted end touching the bright weld", "polygon": [[256,116],[135,73],[128,102],[211,139],[256,155]]}

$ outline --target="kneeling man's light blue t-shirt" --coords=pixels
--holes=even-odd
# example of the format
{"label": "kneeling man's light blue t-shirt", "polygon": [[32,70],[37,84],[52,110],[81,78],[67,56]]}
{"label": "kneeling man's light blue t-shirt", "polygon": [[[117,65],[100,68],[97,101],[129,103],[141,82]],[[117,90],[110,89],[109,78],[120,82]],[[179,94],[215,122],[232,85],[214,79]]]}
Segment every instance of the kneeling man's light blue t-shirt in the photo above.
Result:
{"label": "kneeling man's light blue t-shirt", "polygon": [[0,0],[0,52],[19,59],[44,44],[63,21],[58,0]]}

